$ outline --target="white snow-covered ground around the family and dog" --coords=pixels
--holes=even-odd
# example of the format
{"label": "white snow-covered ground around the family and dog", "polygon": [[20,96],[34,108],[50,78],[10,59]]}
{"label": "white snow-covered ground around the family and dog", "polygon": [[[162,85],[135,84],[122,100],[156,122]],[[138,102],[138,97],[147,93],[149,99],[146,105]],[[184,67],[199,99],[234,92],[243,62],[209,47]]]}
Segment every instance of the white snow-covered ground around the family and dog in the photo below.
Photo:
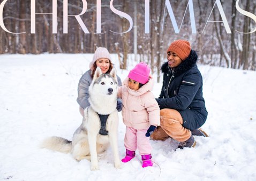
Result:
{"label": "white snow-covered ground around the family and dog", "polygon": [[[0,55],[0,180],[256,180],[256,72],[199,66],[204,78],[208,138],[195,148],[176,149],[172,139],[151,141],[154,167],[140,156],[115,169],[111,148],[99,158],[100,170],[71,154],[39,148],[42,139],[72,139],[82,117],[77,85],[92,54]],[[128,70],[118,69],[124,80]],[[136,62],[129,60],[129,67]],[[156,75],[154,75],[156,80]],[[159,96],[161,83],[153,93]],[[103,103],[104,104],[104,103]],[[119,113],[119,155],[125,126]]]}

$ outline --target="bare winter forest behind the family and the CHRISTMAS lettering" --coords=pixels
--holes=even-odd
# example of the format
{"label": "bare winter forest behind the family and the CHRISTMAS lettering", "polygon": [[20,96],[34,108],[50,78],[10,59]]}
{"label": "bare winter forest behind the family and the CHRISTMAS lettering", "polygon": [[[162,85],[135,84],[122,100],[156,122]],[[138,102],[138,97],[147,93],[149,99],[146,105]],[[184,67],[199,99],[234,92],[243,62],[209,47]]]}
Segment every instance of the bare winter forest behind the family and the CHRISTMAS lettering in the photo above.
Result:
{"label": "bare winter forest behind the family and the CHRISTMAS lettering", "polygon": [[[189,40],[192,48],[199,52],[201,64],[235,68],[256,69],[255,21],[236,9],[235,0],[193,0],[196,33],[192,33],[189,0],[169,1],[179,28],[175,33],[172,20],[165,8],[165,1],[112,1],[115,9],[129,14],[133,27],[128,33],[130,22],[110,9],[110,0],[69,0],[68,14],[82,12],[84,2],[87,10],[80,17],[89,33],[85,33],[75,17],[68,18],[68,33],[63,33],[63,4],[57,1],[57,33],[52,33],[53,0],[35,1],[35,33],[31,33],[31,0],[1,0],[3,23],[10,32],[0,28],[0,53],[93,53],[97,46],[108,48],[117,53],[119,68],[126,69],[127,54],[135,53],[134,59],[146,61],[152,72],[159,75],[162,62],[169,44],[179,38]],[[96,33],[96,2],[101,2],[101,34]],[[145,4],[149,2],[150,29],[145,33]],[[221,2],[224,15],[228,20],[231,33],[227,33],[216,2]],[[240,0],[239,7],[256,14],[256,1]],[[213,10],[213,11],[212,11]],[[220,22],[218,22],[220,21]],[[163,23],[164,22],[164,23]],[[243,32],[243,33],[239,33]],[[246,34],[247,32],[247,34]],[[159,80],[157,80],[159,82]]]}

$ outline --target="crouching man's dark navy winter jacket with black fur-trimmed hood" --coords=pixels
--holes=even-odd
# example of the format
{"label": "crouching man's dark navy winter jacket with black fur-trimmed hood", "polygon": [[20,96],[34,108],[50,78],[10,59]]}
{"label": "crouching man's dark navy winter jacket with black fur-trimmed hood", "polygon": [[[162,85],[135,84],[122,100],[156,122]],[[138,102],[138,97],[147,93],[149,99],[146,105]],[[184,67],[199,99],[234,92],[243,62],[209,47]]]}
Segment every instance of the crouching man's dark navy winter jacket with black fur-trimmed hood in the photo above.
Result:
{"label": "crouching man's dark navy winter jacket with black fur-trimmed hood", "polygon": [[191,50],[189,57],[175,68],[170,68],[165,62],[161,67],[163,86],[159,99],[156,99],[160,109],[176,109],[182,115],[183,127],[190,130],[200,128],[208,114],[197,59],[197,53]]}

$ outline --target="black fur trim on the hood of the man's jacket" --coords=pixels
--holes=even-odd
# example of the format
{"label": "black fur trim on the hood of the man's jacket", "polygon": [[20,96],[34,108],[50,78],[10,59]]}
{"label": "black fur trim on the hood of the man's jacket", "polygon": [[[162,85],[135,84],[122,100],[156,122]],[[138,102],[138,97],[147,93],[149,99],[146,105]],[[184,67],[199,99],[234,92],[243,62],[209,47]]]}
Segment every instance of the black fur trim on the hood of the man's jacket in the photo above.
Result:
{"label": "black fur trim on the hood of the man's jacket", "polygon": [[[197,60],[198,60],[197,52],[195,52],[194,50],[191,50],[189,57],[183,60],[180,65],[178,65],[177,67],[174,67],[175,76],[178,76],[186,72],[187,70],[191,69],[195,65]],[[161,70],[163,73],[170,72],[170,68],[168,68],[168,61],[162,65]]]}

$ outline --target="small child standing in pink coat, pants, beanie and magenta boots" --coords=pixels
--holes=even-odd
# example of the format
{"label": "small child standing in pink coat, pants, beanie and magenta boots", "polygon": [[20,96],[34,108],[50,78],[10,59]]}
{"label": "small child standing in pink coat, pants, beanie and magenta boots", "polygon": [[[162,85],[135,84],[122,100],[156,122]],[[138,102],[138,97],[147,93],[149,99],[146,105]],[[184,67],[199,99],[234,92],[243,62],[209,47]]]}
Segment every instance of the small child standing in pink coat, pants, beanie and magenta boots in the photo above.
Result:
{"label": "small child standing in pink coat, pants, beanie and magenta boots", "polygon": [[126,125],[124,145],[126,156],[122,162],[129,162],[138,148],[142,167],[153,166],[152,146],[149,136],[160,125],[160,108],[152,92],[153,78],[145,62],[137,64],[118,88],[118,97],[123,100],[122,116]]}

